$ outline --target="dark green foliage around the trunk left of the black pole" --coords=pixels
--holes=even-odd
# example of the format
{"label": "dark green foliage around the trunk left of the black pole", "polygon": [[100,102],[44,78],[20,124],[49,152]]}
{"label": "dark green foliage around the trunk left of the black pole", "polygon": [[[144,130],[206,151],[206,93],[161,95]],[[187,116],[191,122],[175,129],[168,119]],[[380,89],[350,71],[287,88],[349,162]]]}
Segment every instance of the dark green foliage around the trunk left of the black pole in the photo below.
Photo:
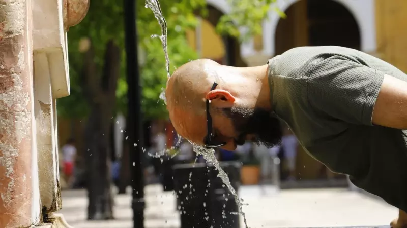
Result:
{"label": "dark green foliage around the trunk left of the black pole", "polygon": [[[91,1],[86,17],[68,31],[68,53],[71,95],[58,99],[59,116],[65,118],[84,118],[89,114],[89,104],[84,99],[83,56],[79,52],[79,42],[89,37],[95,49],[95,63],[98,74],[102,74],[103,57],[107,41],[113,39],[124,50],[123,7],[112,0]],[[122,61],[121,73],[124,73]],[[120,87],[123,89],[123,86]]]}

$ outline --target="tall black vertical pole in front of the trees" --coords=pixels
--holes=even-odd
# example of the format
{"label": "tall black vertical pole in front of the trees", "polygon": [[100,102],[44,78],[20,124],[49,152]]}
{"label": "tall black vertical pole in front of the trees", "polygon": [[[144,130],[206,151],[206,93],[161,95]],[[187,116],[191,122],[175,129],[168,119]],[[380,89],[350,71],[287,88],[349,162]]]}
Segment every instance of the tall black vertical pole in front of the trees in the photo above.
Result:
{"label": "tall black vertical pole in front of the trees", "polygon": [[141,87],[137,58],[136,0],[124,0],[124,19],[128,84],[127,133],[133,188],[133,227],[144,228],[144,178],[141,164],[143,140]]}

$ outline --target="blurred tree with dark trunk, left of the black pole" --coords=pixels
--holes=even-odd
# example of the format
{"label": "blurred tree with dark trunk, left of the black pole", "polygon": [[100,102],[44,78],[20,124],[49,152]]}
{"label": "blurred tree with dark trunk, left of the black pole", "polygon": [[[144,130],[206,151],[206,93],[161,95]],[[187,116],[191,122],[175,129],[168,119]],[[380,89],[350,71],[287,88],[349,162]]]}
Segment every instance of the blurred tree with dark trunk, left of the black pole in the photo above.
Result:
{"label": "blurred tree with dark trunk, left of the black pole", "polygon": [[[94,2],[81,26],[70,31],[69,57],[73,96],[61,99],[60,103],[63,115],[88,115],[85,128],[87,149],[84,151],[88,177],[88,219],[113,218],[108,164],[110,128],[116,109],[118,79],[123,67],[120,61],[123,55],[121,11],[122,8],[111,1]],[[101,12],[105,17],[100,17]]]}

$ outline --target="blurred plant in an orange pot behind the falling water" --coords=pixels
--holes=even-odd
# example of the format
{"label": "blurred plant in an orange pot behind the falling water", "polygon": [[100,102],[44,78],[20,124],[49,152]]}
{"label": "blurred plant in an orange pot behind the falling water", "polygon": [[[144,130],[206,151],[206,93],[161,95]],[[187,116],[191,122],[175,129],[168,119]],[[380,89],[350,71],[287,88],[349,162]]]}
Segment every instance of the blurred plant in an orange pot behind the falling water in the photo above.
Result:
{"label": "blurred plant in an orange pot behind the falling water", "polygon": [[241,181],[243,185],[258,184],[260,178],[260,160],[254,154],[253,149],[244,156],[241,168]]}

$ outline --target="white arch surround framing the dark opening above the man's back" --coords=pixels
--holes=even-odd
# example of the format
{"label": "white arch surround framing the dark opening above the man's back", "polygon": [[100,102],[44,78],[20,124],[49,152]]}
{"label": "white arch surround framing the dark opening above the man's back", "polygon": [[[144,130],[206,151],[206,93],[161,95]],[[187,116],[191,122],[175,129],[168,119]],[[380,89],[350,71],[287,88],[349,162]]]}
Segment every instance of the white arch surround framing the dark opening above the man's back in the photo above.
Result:
{"label": "white arch surround framing the dark opening above the man's back", "polygon": [[[278,0],[276,6],[285,11],[294,3],[301,0]],[[376,50],[376,30],[374,19],[374,0],[331,0],[344,6],[355,18],[359,26],[361,36],[361,51],[374,52]],[[268,56],[275,55],[275,32],[280,16],[270,10],[268,20],[264,23],[264,50],[263,54]],[[248,54],[247,52],[245,53]]]}

